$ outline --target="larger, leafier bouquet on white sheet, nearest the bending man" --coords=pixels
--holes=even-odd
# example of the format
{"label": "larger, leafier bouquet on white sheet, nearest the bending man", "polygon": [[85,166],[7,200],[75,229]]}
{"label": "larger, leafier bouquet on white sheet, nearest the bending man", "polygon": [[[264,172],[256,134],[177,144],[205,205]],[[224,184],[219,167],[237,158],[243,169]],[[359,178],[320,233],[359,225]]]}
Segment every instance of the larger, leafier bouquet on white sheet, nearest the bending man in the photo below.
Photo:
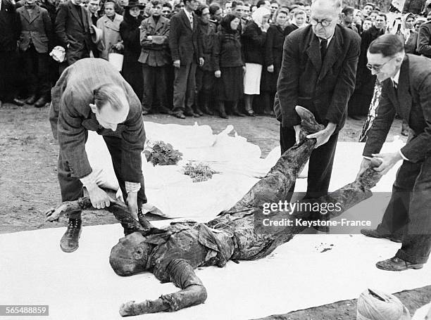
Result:
{"label": "larger, leafier bouquet on white sheet, nearest the bending man", "polygon": [[147,147],[144,150],[147,162],[156,165],[176,165],[182,160],[182,153],[173,148],[170,143],[156,141],[154,143],[147,142]]}

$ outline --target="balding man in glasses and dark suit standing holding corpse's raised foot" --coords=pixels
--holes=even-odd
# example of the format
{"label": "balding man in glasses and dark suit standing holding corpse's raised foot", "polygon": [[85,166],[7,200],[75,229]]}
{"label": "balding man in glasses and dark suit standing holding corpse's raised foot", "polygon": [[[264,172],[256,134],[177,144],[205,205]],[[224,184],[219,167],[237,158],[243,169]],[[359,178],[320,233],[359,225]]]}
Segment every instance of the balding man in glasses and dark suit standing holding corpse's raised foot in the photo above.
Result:
{"label": "balding man in glasses and dark suit standing holding corpse's raised foot", "polygon": [[[339,0],[316,0],[311,6],[311,25],[295,30],[285,39],[283,62],[277,82],[274,111],[280,126],[282,153],[299,141],[301,105],[325,126],[308,139],[316,149],[308,166],[306,198],[327,194],[338,132],[346,120],[347,101],[354,91],[361,39],[356,32],[337,25]],[[294,186],[287,200],[292,198]]]}

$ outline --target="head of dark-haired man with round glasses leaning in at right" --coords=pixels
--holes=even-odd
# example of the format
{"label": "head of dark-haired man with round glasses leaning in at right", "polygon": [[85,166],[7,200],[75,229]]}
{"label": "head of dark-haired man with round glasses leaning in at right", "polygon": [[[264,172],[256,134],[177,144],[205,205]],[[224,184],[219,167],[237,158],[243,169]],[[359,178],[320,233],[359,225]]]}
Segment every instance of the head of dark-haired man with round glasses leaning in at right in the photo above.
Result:
{"label": "head of dark-haired man with round glasses leaning in at right", "polygon": [[368,48],[367,68],[379,81],[394,77],[404,60],[404,43],[395,34],[384,34]]}

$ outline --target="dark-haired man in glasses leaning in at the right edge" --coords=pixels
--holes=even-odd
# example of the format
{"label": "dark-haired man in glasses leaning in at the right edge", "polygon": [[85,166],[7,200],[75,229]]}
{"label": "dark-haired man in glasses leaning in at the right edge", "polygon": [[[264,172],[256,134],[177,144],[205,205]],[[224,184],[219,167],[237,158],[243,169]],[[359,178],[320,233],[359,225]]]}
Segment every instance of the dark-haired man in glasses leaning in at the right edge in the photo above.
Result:
{"label": "dark-haired man in glasses leaning in at the right edge", "polygon": [[[373,41],[367,56],[368,68],[382,82],[382,96],[358,177],[373,158],[382,162],[375,168],[382,174],[404,161],[396,172],[382,223],[377,229],[363,229],[361,233],[402,242],[396,255],[377,262],[377,268],[420,269],[431,250],[431,60],[404,53],[403,42],[394,34]],[[401,150],[380,153],[396,113],[408,122],[411,135]]]}

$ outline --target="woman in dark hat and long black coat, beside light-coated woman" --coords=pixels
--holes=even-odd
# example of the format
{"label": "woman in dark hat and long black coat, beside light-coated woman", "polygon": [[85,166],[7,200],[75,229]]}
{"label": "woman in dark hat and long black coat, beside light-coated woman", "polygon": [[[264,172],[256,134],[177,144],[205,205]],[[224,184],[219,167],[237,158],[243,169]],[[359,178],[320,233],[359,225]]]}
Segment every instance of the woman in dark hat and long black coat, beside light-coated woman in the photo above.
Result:
{"label": "woman in dark hat and long black coat, beside light-coated woman", "polygon": [[123,77],[132,86],[139,100],[142,100],[144,78],[138,59],[141,54],[139,25],[143,19],[140,11],[144,9],[144,6],[136,0],[130,0],[124,8],[124,20],[120,23],[120,35],[124,44]]}

